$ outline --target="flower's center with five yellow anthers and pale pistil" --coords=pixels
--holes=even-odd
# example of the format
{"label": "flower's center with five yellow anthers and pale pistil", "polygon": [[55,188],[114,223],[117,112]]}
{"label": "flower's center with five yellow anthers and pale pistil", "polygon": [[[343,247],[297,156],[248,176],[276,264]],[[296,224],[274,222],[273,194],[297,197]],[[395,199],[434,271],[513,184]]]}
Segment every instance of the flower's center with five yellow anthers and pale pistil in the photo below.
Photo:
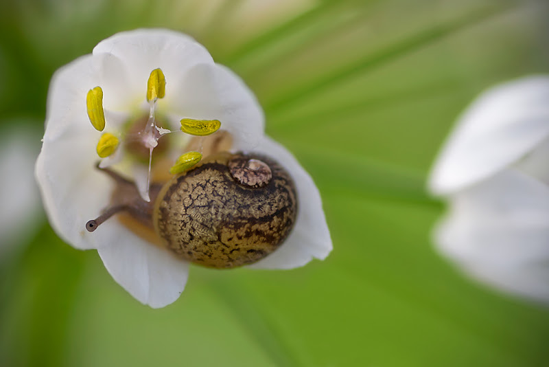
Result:
{"label": "flower's center with five yellow anthers and pale pistil", "polygon": [[[139,188],[141,197],[145,201],[150,201],[149,188],[152,152],[154,151],[154,148],[157,147],[163,150],[166,149],[166,144],[159,145],[159,140],[163,135],[183,132],[188,135],[194,135],[200,140],[197,149],[198,151],[189,151],[176,159],[176,162],[174,162],[174,165],[170,168],[170,174],[176,175],[189,170],[200,162],[200,159],[202,159],[202,137],[215,133],[215,131],[218,131],[221,127],[221,122],[219,120],[197,120],[193,118],[182,118],[180,120],[180,131],[171,131],[159,127],[156,121],[157,101],[164,98],[165,87],[166,79],[163,71],[161,69],[152,70],[147,81],[146,99],[149,104],[149,113],[144,126],[143,122],[141,122],[142,120],[138,120],[137,122],[130,124],[129,129],[126,131],[103,133],[96,148],[97,155],[103,159],[109,158],[115,160],[113,159],[114,156],[123,153],[122,151],[124,150],[130,153],[137,153],[135,155],[141,157],[141,162],[148,158],[148,170],[146,177],[143,176],[143,182],[140,183],[139,178],[135,177],[136,185]],[[86,96],[86,109],[92,126],[97,131],[103,131],[106,126],[106,120],[103,109],[103,89],[101,87],[94,87],[89,90]],[[120,148],[120,146],[124,146],[124,148]]]}

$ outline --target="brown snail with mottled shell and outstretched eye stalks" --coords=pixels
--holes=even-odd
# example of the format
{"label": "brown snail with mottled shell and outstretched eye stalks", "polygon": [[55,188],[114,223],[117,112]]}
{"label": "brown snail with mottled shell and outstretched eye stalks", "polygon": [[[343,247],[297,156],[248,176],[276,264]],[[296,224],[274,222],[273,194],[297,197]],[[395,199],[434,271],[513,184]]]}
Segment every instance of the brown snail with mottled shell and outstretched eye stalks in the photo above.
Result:
{"label": "brown snail with mottled shell and outstretched eye stalks", "polygon": [[273,159],[215,153],[169,181],[152,183],[151,201],[135,183],[99,168],[116,183],[111,206],[86,223],[93,232],[114,214],[148,241],[205,267],[233,268],[274,252],[296,221],[296,188]]}

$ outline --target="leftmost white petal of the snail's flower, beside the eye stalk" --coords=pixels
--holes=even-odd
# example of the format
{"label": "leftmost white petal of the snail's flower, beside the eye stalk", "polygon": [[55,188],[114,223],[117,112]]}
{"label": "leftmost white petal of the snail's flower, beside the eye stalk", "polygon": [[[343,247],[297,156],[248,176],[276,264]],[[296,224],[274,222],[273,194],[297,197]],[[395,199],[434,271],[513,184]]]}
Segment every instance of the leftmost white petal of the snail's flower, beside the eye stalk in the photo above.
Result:
{"label": "leftmost white petal of the snail's flower, beside the eye stalk", "polygon": [[82,249],[107,240],[89,236],[84,225],[108,205],[113,187],[106,175],[93,169],[101,133],[93,129],[86,112],[86,93],[96,81],[91,58],[78,58],[52,78],[44,143],[36,162],[36,179],[52,227]]}

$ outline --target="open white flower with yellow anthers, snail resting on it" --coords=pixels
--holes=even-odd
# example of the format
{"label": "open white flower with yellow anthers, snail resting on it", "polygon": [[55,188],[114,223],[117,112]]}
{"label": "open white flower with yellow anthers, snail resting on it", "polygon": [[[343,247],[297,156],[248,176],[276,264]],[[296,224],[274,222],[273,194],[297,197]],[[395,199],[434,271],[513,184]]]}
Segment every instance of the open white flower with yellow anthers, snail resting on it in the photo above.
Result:
{"label": "open white flower with yellow anthers, snail resting on it", "polygon": [[[160,71],[154,74],[156,69]],[[89,96],[91,89],[98,90],[95,87],[100,87],[102,100],[95,92]],[[94,116],[101,120],[96,108],[101,102],[103,132],[90,123]],[[128,121],[139,119],[145,126],[148,116],[151,129],[136,133],[128,127]],[[221,130],[232,137],[231,151],[264,153],[288,170],[296,183],[299,212],[290,236],[251,267],[290,269],[329,254],[331,240],[318,190],[291,153],[264,135],[264,115],[253,93],[232,71],[215,64],[202,45],[169,30],[115,34],[100,42],[93,54],[62,67],[52,78],[36,177],[49,221],[59,236],[78,249],[97,249],[108,272],[137,300],[155,308],[174,302],[187,282],[188,263],[145,241],[115,218],[93,233],[84,225],[108,208],[115,188],[113,179],[95,168],[102,134],[110,134],[106,155],[112,154],[102,160],[101,167],[112,166],[135,180],[146,199],[146,159],[136,159],[124,144],[137,139],[146,153],[185,118],[219,120]],[[185,153],[189,137],[181,132],[170,137],[167,155],[174,161]],[[156,168],[153,159],[152,170]]]}

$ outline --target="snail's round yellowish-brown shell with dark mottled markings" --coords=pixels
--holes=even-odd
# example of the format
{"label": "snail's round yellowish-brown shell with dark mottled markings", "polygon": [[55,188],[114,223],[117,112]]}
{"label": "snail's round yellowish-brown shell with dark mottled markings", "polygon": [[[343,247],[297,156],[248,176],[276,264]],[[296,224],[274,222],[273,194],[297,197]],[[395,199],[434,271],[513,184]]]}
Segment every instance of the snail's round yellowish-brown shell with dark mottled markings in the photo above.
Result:
{"label": "snail's round yellowish-brown shell with dark mottled markings", "polygon": [[[267,166],[272,177],[263,187],[240,183],[231,175],[229,167],[239,173],[235,166],[243,159],[260,162],[255,171],[263,180]],[[258,181],[253,173],[246,175]],[[294,183],[279,164],[261,155],[223,154],[167,183],[156,201],[153,222],[165,245],[181,258],[232,268],[255,263],[277,249],[296,214]]]}

